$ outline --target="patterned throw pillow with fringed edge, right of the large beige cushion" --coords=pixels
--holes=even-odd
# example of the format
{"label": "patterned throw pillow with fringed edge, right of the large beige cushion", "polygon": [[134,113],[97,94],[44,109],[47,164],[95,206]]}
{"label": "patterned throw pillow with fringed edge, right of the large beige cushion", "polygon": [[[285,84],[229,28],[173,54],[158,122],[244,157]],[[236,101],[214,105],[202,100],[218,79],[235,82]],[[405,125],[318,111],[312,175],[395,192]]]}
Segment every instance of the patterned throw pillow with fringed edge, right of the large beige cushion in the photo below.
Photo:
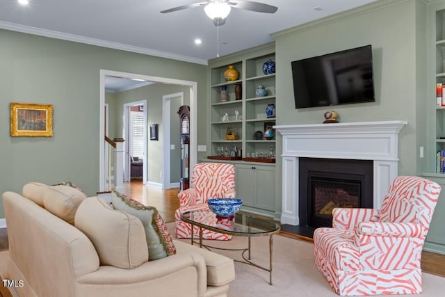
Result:
{"label": "patterned throw pillow with fringed edge, right of the large beige cushion", "polygon": [[176,253],[175,244],[156,207],[147,207],[113,189],[111,194],[113,208],[125,211],[139,218],[145,230],[149,260],[161,259]]}

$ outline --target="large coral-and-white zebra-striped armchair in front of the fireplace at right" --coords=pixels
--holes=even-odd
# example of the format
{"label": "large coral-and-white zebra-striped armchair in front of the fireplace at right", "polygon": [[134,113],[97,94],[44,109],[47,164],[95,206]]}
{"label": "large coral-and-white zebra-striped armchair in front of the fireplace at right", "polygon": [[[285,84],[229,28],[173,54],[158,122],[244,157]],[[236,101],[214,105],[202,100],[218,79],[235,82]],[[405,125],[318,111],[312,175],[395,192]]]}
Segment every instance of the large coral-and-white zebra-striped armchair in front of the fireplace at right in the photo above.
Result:
{"label": "large coral-and-white zebra-striped armchair in front of the fireplace at right", "polygon": [[440,186],[397,177],[382,209],[334,209],[314,232],[318,269],[341,296],[421,294],[421,252]]}

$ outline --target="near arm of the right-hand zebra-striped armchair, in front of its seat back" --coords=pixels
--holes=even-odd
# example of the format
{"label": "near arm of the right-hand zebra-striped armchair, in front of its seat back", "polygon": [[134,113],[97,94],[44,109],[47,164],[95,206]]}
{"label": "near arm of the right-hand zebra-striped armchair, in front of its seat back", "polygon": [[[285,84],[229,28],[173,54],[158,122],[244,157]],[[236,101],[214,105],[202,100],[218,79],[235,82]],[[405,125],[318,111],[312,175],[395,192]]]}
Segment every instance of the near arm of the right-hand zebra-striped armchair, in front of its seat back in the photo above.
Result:
{"label": "near arm of the right-hand zebra-striped armchair, in front of its seat back", "polygon": [[416,223],[362,222],[357,225],[357,234],[382,237],[418,237],[426,236],[427,230]]}

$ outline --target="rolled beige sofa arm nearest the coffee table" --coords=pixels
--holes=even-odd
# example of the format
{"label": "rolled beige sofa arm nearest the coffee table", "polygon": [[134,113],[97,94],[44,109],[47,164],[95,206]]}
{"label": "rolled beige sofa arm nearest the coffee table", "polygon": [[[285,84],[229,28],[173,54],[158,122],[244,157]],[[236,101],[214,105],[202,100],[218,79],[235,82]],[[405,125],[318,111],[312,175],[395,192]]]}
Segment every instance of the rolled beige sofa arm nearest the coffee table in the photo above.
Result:
{"label": "rolled beige sofa arm nearest the coffee table", "polygon": [[[196,271],[196,278],[192,271]],[[165,282],[169,284],[165,285]],[[184,289],[196,290],[197,296],[204,296],[207,269],[204,257],[189,252],[145,262],[131,269],[100,266],[97,271],[78,278],[76,283],[79,296],[94,296],[91,292],[95,292],[96,296],[125,296],[136,291],[145,291],[147,296],[150,295],[149,291],[159,296],[181,296]],[[184,283],[191,287],[181,288],[180,284]]]}

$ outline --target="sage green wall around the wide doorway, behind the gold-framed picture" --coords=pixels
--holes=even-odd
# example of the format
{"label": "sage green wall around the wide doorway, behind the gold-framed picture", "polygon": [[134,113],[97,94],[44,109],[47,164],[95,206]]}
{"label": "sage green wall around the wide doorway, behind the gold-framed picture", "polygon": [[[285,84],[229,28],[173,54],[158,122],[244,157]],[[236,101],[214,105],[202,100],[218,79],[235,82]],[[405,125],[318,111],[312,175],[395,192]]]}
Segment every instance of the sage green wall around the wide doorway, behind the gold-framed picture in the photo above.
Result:
{"label": "sage green wall around the wide doorway, behind the gold-framed picture", "polygon": [[[7,30],[0,45],[1,193],[31,181],[99,190],[99,70],[196,81],[197,144],[207,143],[205,65]],[[54,137],[10,137],[10,102],[53,104]]]}

